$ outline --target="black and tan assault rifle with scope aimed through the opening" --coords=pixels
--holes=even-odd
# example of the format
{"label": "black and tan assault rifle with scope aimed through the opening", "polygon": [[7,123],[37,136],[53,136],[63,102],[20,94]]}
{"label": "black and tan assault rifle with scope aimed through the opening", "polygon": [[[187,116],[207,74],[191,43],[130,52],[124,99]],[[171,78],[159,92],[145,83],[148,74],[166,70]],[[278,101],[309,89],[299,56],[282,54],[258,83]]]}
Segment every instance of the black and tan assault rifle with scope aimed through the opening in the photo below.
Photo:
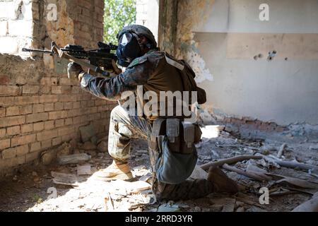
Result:
{"label": "black and tan assault rifle with scope aimed through the opening", "polygon": [[58,57],[68,59],[69,61],[75,62],[88,68],[88,73],[94,71],[96,75],[110,76],[108,71],[117,70],[117,66],[114,62],[117,61],[117,57],[114,50],[117,49],[116,45],[105,44],[98,42],[98,49],[84,50],[80,45],[67,44],[64,48],[59,48],[55,42],[51,44],[51,51],[42,49],[25,49],[23,52],[40,52],[44,54],[50,54],[53,56],[57,54]]}

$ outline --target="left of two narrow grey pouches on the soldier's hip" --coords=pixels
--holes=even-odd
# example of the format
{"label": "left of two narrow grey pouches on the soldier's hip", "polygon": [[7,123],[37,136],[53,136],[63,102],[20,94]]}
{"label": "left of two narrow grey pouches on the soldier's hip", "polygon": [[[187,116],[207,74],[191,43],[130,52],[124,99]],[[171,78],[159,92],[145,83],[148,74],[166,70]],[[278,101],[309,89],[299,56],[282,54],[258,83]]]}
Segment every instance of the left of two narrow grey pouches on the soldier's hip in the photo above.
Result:
{"label": "left of two narrow grey pouches on the soldier's hip", "polygon": [[180,120],[179,119],[166,119],[166,135],[169,141],[170,151],[180,152]]}

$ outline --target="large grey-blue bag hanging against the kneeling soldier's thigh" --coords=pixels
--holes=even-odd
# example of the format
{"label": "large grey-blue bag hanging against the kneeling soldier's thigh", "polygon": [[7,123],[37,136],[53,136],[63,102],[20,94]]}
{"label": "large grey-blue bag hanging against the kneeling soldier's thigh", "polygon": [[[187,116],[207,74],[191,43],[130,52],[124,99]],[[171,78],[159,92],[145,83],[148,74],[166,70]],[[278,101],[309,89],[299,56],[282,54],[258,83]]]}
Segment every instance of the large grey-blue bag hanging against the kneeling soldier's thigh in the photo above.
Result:
{"label": "large grey-blue bag hanging against the kneeling soldier's thigh", "polygon": [[158,137],[160,155],[155,164],[155,174],[159,182],[165,184],[180,184],[193,172],[198,160],[194,145],[189,154],[175,153],[170,151],[167,136]]}

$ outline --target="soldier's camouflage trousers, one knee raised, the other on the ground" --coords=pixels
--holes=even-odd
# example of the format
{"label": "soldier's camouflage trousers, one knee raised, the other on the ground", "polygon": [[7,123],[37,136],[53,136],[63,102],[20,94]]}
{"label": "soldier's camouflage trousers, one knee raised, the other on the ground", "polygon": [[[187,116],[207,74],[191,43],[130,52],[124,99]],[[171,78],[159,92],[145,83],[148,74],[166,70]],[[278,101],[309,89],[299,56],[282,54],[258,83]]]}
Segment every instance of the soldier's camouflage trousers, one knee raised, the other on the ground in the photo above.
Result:
{"label": "soldier's camouflage trousers, one knee raised, the other on the ground", "polygon": [[[142,117],[131,116],[124,108],[117,106],[110,116],[110,133],[108,151],[120,161],[127,162],[130,157],[131,138],[148,139],[151,136],[151,122]],[[149,154],[153,150],[148,148]],[[153,161],[151,161],[153,162]],[[153,163],[152,163],[153,164]],[[213,192],[213,184],[206,179],[195,179],[181,184],[165,184],[158,182],[153,172],[153,192],[158,200],[187,200],[204,197]]]}

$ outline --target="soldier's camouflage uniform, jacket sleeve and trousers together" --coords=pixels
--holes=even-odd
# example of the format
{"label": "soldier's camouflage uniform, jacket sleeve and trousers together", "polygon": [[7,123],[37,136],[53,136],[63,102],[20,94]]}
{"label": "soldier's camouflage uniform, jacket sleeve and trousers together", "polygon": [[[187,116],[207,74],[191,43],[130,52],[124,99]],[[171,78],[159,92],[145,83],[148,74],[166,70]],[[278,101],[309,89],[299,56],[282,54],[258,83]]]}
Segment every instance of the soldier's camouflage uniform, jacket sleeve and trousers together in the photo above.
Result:
{"label": "soldier's camouflage uniform, jacket sleeve and trousers together", "polygon": [[[176,70],[163,64],[164,54],[152,50],[143,57],[135,59],[124,73],[115,76],[114,78],[95,78],[86,74],[81,81],[81,87],[93,95],[106,100],[119,100],[122,92],[131,90],[136,91],[137,85],[143,85],[144,90],[150,90],[151,85],[158,81],[158,77],[162,76],[160,83],[165,84],[161,90],[171,90],[168,83],[164,82],[164,77],[169,76],[167,81],[172,81]],[[162,65],[162,66],[160,66]],[[158,69],[161,68],[161,69]],[[167,69],[168,73],[164,73]],[[163,71],[156,73],[159,76],[153,76],[155,71]],[[176,83],[176,82],[175,82]],[[175,84],[172,84],[175,85]],[[158,87],[158,86],[157,86]],[[178,87],[175,89],[179,89]],[[172,90],[173,92],[174,90]],[[136,114],[135,114],[136,115]],[[129,115],[126,110],[120,106],[112,110],[110,118],[110,131],[108,151],[114,159],[120,162],[127,162],[130,156],[131,138],[148,139],[151,136],[153,120],[151,117],[138,117]],[[154,165],[158,150],[148,148],[151,157],[151,165]],[[190,198],[199,198],[213,192],[213,184],[206,179],[186,180],[181,184],[165,184],[158,182],[155,172],[153,172],[153,192],[158,200],[187,200]]]}

